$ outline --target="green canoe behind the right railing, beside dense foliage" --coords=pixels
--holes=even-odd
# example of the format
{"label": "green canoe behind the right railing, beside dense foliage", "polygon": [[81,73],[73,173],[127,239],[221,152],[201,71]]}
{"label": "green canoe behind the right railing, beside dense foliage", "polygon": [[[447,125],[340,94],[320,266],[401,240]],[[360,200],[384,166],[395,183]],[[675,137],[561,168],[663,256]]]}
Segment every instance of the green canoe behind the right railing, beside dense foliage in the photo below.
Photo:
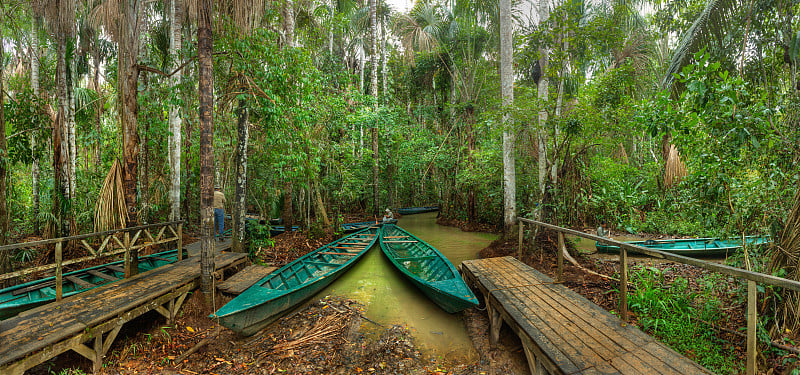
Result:
{"label": "green canoe behind the right railing, beside dense foliage", "polygon": [[[764,246],[771,242],[769,237],[745,237],[748,246]],[[629,244],[639,245],[653,250],[686,256],[724,256],[732,254],[742,247],[741,239],[720,240],[719,238],[686,238],[677,240],[647,240],[629,241]],[[619,253],[619,247],[595,242],[595,247],[601,253]]]}

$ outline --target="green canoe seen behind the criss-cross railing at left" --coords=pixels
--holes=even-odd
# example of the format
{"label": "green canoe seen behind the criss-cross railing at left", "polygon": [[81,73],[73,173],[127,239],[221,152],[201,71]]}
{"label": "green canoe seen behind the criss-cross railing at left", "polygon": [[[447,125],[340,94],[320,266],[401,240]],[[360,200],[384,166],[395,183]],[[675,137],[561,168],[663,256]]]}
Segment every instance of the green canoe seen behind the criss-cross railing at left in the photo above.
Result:
{"label": "green canoe seen behind the criss-cross railing at left", "polygon": [[[185,252],[184,252],[185,258]],[[139,257],[139,272],[174,263],[175,250]],[[69,297],[125,277],[125,261],[67,272],[62,275],[62,295]],[[0,320],[56,300],[56,278],[47,277],[0,290]]]}

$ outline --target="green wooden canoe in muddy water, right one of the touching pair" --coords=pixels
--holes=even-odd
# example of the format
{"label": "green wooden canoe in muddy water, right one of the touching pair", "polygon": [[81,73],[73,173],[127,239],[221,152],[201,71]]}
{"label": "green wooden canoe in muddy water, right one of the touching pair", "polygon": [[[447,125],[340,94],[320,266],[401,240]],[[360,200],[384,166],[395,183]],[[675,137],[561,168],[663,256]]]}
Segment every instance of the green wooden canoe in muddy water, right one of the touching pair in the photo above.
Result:
{"label": "green wooden canoe in muddy water, right one of the touching pair", "polygon": [[392,264],[445,311],[478,306],[456,268],[433,246],[393,224],[383,226],[379,241]]}

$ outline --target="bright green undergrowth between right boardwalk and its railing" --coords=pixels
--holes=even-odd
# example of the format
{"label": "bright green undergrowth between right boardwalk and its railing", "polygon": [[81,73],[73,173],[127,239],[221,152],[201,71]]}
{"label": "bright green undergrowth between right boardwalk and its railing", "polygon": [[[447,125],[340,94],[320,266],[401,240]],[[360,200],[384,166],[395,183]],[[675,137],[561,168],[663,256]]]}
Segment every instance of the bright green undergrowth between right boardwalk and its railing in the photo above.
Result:
{"label": "bright green undergrowth between right boardwalk and its railing", "polygon": [[630,277],[635,287],[628,296],[628,305],[645,332],[714,373],[731,374],[744,364],[729,342],[718,339],[715,331],[700,321],[719,322],[725,318],[718,298],[724,283],[719,278],[701,277],[697,288],[690,288],[682,277],[665,282],[663,272],[656,268],[635,269]]}

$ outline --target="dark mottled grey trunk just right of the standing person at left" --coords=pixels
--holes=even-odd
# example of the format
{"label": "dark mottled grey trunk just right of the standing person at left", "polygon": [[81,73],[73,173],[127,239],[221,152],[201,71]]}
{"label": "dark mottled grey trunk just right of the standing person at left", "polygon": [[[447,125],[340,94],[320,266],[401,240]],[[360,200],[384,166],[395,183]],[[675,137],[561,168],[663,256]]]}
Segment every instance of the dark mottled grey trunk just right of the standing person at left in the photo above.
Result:
{"label": "dark mottled grey trunk just right of the standing person at left", "polygon": [[233,205],[233,251],[244,252],[244,216],[247,213],[247,143],[250,138],[250,114],[247,102],[239,99],[236,142],[236,198]]}

